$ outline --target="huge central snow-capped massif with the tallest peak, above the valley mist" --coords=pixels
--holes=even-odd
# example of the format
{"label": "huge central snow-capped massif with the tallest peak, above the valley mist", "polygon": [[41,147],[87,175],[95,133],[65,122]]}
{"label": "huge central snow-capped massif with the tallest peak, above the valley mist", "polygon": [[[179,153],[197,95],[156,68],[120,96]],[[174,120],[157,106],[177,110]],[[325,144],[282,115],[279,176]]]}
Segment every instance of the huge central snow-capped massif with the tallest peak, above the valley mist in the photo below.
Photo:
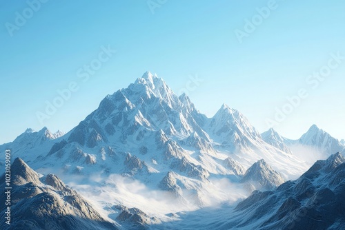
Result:
{"label": "huge central snow-capped massif with the tallest peak, above the valley mist", "polygon": [[213,118],[207,118],[186,94],[176,96],[150,72],[106,96],[67,134],[54,135],[46,128],[25,132],[0,146],[6,148],[34,169],[84,176],[121,174],[157,189],[173,171],[184,191],[181,200],[188,200],[190,193],[205,194],[201,191],[213,186],[207,182],[210,175],[240,176],[262,158],[288,177],[307,168],[298,158],[264,142],[237,110],[222,105]]}

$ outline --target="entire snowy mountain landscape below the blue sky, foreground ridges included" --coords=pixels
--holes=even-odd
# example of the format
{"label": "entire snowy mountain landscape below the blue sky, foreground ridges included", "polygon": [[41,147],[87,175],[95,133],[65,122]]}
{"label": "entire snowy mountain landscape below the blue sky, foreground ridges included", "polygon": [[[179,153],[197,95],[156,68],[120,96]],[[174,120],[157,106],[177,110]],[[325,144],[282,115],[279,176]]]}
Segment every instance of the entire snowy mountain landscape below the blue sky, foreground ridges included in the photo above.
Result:
{"label": "entire snowy mountain landscape below the blue sky, foreground ridges included", "polygon": [[299,140],[260,134],[225,104],[208,118],[150,72],[66,134],[27,129],[6,149],[19,229],[188,229],[215,207],[204,229],[344,226],[344,143],[316,125]]}

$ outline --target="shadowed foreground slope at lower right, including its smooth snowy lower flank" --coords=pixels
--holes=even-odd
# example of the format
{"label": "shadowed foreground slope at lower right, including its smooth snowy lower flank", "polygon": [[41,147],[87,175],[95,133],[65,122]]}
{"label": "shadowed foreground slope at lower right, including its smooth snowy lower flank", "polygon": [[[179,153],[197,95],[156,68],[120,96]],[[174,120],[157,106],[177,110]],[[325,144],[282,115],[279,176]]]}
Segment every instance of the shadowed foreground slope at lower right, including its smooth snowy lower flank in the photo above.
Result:
{"label": "shadowed foreground slope at lower right, including its smooth snowy lower flank", "polygon": [[345,159],[318,160],[297,180],[253,191],[235,207],[177,213],[171,229],[345,229]]}

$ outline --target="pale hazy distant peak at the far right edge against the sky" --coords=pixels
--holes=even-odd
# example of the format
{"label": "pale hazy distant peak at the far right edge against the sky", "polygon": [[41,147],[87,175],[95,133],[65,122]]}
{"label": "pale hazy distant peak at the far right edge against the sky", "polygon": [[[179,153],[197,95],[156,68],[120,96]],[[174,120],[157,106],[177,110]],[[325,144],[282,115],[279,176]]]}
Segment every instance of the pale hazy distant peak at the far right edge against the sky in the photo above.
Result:
{"label": "pale hazy distant peak at the far right edge against the sky", "polygon": [[339,140],[324,132],[323,129],[319,129],[317,125],[312,125],[308,132],[299,138],[298,143],[311,146],[322,154],[335,154],[344,148]]}

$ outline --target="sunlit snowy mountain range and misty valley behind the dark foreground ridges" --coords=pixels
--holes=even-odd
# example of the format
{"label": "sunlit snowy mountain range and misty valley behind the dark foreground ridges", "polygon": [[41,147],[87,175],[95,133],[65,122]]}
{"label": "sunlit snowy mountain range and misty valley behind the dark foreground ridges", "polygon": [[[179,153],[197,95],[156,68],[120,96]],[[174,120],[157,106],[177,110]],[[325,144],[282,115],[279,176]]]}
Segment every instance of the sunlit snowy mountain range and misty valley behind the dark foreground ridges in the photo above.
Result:
{"label": "sunlit snowy mountain range and misty valley behind the dark foreground ridges", "polygon": [[[119,225],[138,220],[135,215],[139,215],[139,223],[146,226],[176,220],[167,211],[200,209],[229,200],[235,204],[253,191],[274,190],[297,179],[311,167],[294,151],[300,145],[324,158],[344,152],[344,141],[316,125],[298,140],[288,140],[274,129],[259,134],[243,114],[225,104],[208,118],[186,94],[177,96],[163,79],[146,72],[127,88],[103,98],[70,132],[27,129],[12,143],[0,145],[0,151],[11,149],[12,158],[23,159],[35,171],[66,178],[81,196],[90,195],[83,189],[86,185],[95,185],[97,192],[110,189],[116,195],[113,200],[97,197],[103,210],[99,215]],[[118,183],[109,182],[120,180],[114,175],[164,194],[180,206],[155,211],[144,202],[130,200],[121,194]],[[36,182],[32,186],[43,186]]]}

